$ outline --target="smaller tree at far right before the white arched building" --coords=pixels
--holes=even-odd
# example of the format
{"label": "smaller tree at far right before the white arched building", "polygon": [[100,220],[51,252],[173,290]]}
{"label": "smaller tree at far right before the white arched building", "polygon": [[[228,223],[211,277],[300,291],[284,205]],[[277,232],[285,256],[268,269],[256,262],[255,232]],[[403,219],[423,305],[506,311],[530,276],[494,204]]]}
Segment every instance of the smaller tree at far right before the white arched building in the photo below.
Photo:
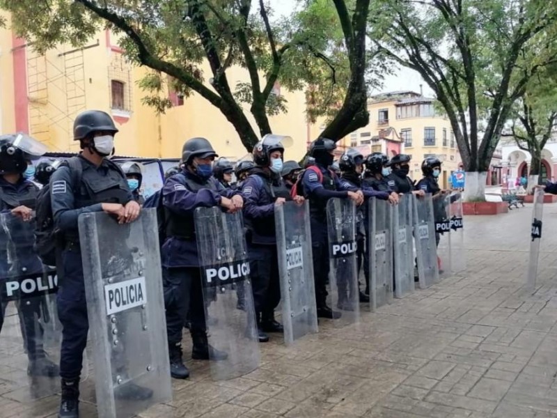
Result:
{"label": "smaller tree at far right before the white arched building", "polygon": [[538,184],[542,150],[557,123],[557,82],[552,68],[533,77],[512,109],[511,131],[517,146],[531,155],[528,189]]}

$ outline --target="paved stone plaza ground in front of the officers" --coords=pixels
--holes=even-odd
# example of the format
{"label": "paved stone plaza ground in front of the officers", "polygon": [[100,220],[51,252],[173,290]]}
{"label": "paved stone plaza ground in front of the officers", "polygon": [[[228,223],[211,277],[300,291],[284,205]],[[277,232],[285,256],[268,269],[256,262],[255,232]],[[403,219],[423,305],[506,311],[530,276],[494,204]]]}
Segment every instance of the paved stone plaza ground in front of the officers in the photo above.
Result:
{"label": "paved stone plaza ground in front of the officers", "polygon": [[[531,213],[465,217],[462,275],[363,312],[358,326],[320,320],[319,334],[292,348],[273,336],[242,378],[213,382],[207,362],[189,360],[174,401],[141,417],[557,417],[557,205],[544,206],[533,295],[524,286]],[[87,398],[92,378],[84,386]],[[58,401],[0,397],[0,418],[55,416]],[[81,416],[95,417],[95,406],[82,402]]]}

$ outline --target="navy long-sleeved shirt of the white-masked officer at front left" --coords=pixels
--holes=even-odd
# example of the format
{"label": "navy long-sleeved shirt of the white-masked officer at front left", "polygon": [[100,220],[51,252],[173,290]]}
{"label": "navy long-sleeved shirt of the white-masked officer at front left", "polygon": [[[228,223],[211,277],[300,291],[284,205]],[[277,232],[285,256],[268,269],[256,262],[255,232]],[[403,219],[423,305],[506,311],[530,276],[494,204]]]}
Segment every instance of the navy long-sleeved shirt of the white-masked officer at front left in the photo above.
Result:
{"label": "navy long-sleeved shirt of the white-masked officer at front left", "polygon": [[[86,158],[81,156],[80,158],[82,162],[89,164],[90,167],[88,169],[95,169],[100,176],[107,176],[111,169],[106,160],[102,160],[100,166],[96,167],[95,164]],[[73,177],[70,167],[63,165],[54,171],[50,178],[52,215],[54,215],[54,224],[61,231],[77,230],[77,219],[82,213],[102,212],[102,203],[95,203],[84,208],[76,208],[75,197],[79,194],[81,186],[72,184]],[[130,189],[127,192],[128,202],[134,200]]]}

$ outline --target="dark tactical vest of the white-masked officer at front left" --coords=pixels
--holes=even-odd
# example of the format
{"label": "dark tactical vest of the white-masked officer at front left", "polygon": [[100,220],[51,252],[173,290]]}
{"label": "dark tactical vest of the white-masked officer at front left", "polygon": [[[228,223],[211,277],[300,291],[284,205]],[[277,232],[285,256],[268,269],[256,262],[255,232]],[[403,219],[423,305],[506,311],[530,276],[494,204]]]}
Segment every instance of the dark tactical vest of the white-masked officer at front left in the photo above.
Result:
{"label": "dark tactical vest of the white-masked officer at front left", "polygon": [[[107,164],[106,173],[102,173],[97,167],[88,164],[84,159],[79,159],[83,172],[81,182],[75,186],[74,207],[76,209],[86,208],[98,203],[120,203],[125,205],[129,201],[130,189],[127,178],[122,169],[110,160],[104,160]],[[79,232],[76,230],[65,231],[66,242],[79,242]]]}

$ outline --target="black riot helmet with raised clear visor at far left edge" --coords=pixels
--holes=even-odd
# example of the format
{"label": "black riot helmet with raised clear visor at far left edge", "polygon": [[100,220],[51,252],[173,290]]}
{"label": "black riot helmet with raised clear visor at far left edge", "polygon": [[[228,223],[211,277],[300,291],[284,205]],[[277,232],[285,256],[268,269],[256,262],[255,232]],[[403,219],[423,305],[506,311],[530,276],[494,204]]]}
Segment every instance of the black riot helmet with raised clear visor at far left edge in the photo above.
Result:
{"label": "black riot helmet with raised clear visor at far left edge", "polygon": [[47,147],[26,134],[0,136],[0,174],[21,174],[29,160],[37,160]]}

